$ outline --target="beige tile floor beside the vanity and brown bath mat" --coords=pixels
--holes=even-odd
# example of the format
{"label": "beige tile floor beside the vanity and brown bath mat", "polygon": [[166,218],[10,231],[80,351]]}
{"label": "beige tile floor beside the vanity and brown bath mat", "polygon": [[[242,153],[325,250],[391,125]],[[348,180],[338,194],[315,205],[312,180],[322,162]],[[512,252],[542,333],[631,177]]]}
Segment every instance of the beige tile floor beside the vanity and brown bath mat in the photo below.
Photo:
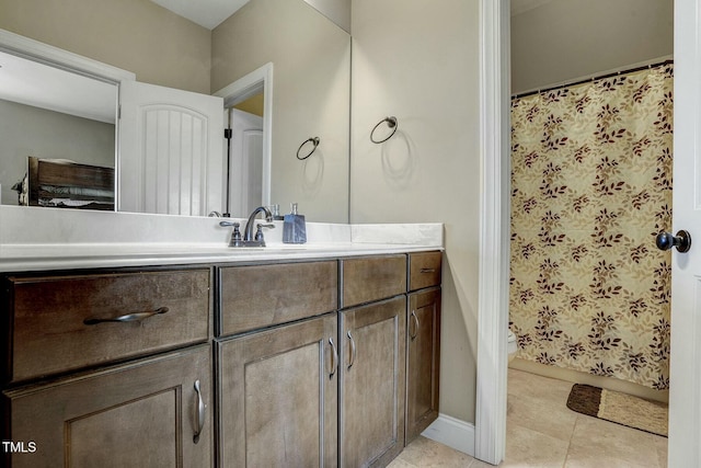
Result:
{"label": "beige tile floor beside the vanity and brown bath mat", "polygon": [[[662,468],[667,438],[596,418],[565,406],[572,384],[508,370],[506,459],[499,468]],[[492,465],[418,437],[391,468]]]}

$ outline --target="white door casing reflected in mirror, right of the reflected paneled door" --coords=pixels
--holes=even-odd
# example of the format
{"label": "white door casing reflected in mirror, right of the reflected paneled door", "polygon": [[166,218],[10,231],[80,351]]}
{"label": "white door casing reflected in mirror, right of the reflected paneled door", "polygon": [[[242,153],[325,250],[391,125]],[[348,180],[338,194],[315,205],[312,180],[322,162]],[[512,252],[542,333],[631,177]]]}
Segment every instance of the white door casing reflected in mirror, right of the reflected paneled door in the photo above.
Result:
{"label": "white door casing reflected in mirror, right of the reflected paneled door", "polygon": [[263,182],[262,205],[271,204],[273,169],[273,62],[251,71],[223,87],[212,95],[223,98],[223,106],[231,107],[263,91]]}

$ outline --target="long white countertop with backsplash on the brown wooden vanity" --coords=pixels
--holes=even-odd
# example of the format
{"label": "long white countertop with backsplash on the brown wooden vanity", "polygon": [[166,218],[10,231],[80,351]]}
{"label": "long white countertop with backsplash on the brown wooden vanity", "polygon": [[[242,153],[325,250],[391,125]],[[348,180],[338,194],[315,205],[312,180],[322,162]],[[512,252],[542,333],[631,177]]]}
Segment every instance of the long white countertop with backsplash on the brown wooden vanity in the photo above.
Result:
{"label": "long white countertop with backsplash on the brown wooden vanity", "polygon": [[0,208],[0,272],[324,259],[444,246],[441,224],[308,222],[308,242],[286,244],[275,221],[265,233],[267,247],[229,248],[231,228],[220,220]]}

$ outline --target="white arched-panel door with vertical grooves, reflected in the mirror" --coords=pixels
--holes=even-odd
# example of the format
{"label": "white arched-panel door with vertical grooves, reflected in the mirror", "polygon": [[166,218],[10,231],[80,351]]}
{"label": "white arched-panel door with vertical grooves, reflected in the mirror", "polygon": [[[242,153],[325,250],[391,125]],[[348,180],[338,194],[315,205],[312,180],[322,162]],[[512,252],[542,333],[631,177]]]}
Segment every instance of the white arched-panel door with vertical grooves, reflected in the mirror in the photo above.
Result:
{"label": "white arched-panel door with vertical grooves, reflected in the mirror", "polygon": [[123,81],[119,102],[118,210],[222,213],[223,100]]}

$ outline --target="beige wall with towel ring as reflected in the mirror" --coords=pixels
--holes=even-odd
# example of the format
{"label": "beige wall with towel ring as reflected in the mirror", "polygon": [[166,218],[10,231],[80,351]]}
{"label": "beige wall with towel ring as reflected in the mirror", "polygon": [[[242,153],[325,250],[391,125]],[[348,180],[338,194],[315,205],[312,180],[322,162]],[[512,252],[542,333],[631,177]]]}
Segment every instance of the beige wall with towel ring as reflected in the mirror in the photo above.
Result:
{"label": "beige wall with towel ring as reflected in the mirror", "polygon": [[[211,88],[273,62],[271,202],[307,220],[348,221],[350,38],[303,1],[253,0],[212,32]],[[264,99],[267,99],[265,96]],[[321,142],[296,158],[308,138]]]}

